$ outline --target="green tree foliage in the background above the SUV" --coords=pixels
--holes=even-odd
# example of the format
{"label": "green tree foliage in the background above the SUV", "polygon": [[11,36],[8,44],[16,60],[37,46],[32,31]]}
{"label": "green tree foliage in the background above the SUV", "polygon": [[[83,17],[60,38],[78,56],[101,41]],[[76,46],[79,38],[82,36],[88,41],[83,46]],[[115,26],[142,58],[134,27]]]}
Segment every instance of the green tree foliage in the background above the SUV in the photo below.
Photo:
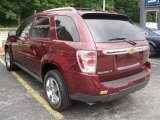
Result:
{"label": "green tree foliage in the background above the SUV", "polygon": [[[139,22],[140,0],[106,0],[106,9],[130,16],[135,22]],[[43,11],[56,7],[82,7],[102,10],[102,0],[1,0],[0,2],[0,26],[12,26],[21,18],[34,14],[34,11]],[[154,15],[149,16],[149,20]]]}

